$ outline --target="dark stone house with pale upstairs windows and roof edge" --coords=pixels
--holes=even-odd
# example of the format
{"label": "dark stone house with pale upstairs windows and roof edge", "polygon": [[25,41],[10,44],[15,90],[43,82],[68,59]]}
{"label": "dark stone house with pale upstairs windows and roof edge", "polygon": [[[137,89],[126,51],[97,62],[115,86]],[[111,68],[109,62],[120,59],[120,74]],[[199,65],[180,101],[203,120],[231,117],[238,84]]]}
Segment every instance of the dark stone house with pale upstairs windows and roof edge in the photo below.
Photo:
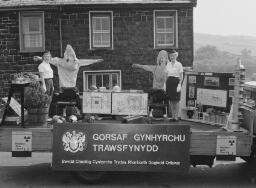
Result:
{"label": "dark stone house with pale upstairs windows and roof edge", "polygon": [[50,50],[62,57],[66,44],[79,59],[104,59],[80,68],[80,91],[90,70],[121,70],[122,89],[150,88],[152,75],[132,64],[155,64],[159,50],[177,49],[183,66],[192,66],[195,6],[196,0],[0,0],[0,97],[12,74],[37,71],[34,55]]}

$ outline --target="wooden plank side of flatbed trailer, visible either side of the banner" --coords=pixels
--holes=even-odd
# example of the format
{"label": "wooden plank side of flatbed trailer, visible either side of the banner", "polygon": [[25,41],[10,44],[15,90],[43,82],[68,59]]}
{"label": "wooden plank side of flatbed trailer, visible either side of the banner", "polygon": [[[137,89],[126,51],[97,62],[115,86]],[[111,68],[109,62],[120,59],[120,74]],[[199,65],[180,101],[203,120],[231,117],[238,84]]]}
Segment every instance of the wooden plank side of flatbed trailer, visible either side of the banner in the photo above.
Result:
{"label": "wooden plank side of flatbed trailer, visible either side of the banner", "polygon": [[[159,121],[158,121],[159,123]],[[97,122],[95,122],[97,124]],[[100,122],[99,124],[112,124],[114,121]],[[237,132],[229,132],[222,127],[190,121],[170,122],[170,126],[185,124],[191,127],[190,155],[216,156],[216,140],[217,136],[236,136],[237,137],[237,156],[249,156],[253,135],[243,129]],[[74,125],[75,126],[75,125]],[[51,152],[53,144],[53,126],[49,127],[0,127],[0,151],[12,151],[12,132],[14,131],[30,131],[32,132],[33,152]]]}

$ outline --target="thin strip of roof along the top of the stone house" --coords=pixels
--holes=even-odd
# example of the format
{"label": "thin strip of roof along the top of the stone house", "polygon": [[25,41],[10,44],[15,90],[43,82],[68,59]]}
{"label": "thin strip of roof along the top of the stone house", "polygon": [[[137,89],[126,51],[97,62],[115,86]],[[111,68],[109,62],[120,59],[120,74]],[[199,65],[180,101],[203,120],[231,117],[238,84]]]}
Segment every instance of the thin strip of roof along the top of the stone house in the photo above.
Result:
{"label": "thin strip of roof along the top of the stone house", "polygon": [[86,4],[152,4],[152,3],[193,3],[197,0],[0,0],[1,8],[54,6],[54,5],[86,5]]}

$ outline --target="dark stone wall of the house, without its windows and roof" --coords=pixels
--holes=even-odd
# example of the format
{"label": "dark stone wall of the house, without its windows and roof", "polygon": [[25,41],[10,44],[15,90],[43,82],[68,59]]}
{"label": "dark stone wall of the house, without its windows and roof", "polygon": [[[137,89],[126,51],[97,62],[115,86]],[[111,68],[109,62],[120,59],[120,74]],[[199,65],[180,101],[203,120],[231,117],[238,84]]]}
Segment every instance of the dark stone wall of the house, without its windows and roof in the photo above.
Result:
{"label": "dark stone wall of the house, without its windows and roof", "polygon": [[[183,66],[193,63],[193,8],[155,7],[160,10],[178,11],[178,60]],[[103,58],[104,61],[87,67],[81,67],[77,85],[82,91],[83,70],[120,69],[123,89],[148,89],[152,87],[152,75],[140,69],[132,68],[133,63],[155,64],[157,53],[154,49],[153,7],[62,7],[45,9],[45,46],[53,56],[61,57],[60,27],[62,48],[71,44],[78,58]],[[89,49],[89,10],[113,11],[113,50]],[[39,63],[33,62],[34,55],[41,53],[19,52],[19,12],[0,12],[0,97],[6,96],[11,74],[23,71],[37,71]],[[55,87],[58,88],[57,71]]]}

